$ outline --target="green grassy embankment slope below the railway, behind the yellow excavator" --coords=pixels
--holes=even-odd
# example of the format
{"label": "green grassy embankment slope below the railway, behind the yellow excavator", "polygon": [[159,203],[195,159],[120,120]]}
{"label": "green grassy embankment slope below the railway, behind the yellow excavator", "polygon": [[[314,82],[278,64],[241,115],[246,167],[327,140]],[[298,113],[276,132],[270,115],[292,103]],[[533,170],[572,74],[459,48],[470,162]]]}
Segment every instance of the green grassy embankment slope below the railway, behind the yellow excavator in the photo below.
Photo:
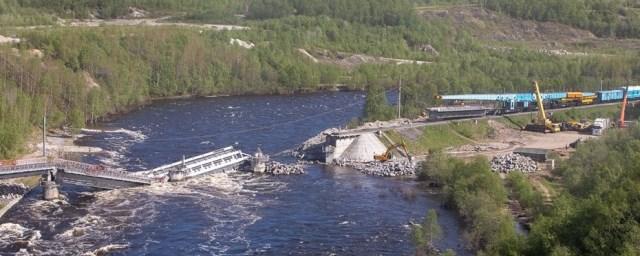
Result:
{"label": "green grassy embankment slope below the railway, behind the yellow excavator", "polygon": [[475,140],[486,139],[494,130],[487,121],[451,122],[449,124],[427,126],[422,134],[412,140],[397,131],[389,131],[387,135],[394,142],[404,140],[413,155],[425,155],[435,151],[442,151],[448,147],[457,147],[473,143]]}

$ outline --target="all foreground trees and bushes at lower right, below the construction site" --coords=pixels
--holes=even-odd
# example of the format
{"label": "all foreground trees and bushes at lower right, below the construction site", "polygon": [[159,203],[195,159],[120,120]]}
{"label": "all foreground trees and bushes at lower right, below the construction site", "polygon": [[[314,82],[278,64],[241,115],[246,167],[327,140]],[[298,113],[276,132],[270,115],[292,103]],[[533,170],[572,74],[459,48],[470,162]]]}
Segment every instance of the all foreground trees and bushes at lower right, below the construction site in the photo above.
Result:
{"label": "all foreground trees and bushes at lower right, below the construction site", "polygon": [[[446,205],[468,225],[469,247],[480,255],[638,255],[638,152],[637,127],[581,145],[555,171],[564,189],[551,205],[521,174],[502,181],[485,158],[464,162],[435,154],[421,178],[442,187]],[[534,216],[526,236],[515,232],[513,217],[502,210],[509,193]]]}

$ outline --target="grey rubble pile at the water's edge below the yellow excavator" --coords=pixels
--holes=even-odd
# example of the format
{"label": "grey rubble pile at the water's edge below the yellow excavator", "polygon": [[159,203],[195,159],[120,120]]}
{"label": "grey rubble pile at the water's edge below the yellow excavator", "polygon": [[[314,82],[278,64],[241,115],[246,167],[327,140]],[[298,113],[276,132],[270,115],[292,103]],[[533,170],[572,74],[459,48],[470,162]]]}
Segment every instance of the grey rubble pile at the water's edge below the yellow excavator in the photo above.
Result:
{"label": "grey rubble pile at the water's edge below the yellow excavator", "polygon": [[361,173],[371,176],[381,177],[399,177],[413,176],[416,174],[416,166],[408,161],[389,161],[389,162],[337,162],[339,166],[354,168]]}

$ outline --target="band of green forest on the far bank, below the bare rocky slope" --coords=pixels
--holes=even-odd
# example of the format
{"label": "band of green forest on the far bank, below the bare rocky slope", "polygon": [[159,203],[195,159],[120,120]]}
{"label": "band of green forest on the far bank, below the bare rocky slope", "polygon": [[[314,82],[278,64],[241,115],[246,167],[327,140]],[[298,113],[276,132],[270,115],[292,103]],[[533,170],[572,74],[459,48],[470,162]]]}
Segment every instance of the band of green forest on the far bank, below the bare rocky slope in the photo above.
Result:
{"label": "band of green forest on the far bank, below the bare rocky slope", "polygon": [[[249,12],[252,5],[261,1],[248,3]],[[51,13],[73,14],[65,11],[68,9],[62,4],[65,1],[0,2],[3,13],[7,10],[29,13],[46,6],[50,12],[62,8]],[[87,8],[96,4],[80,2]],[[195,9],[205,4],[193,0],[175,7],[167,4],[172,2],[168,0],[133,2],[165,12]],[[403,8],[386,11],[412,18],[384,26],[381,24],[386,21],[366,18],[384,12],[377,8],[365,13],[357,6],[340,8],[351,11],[348,15],[327,13],[333,10],[329,7],[345,4],[344,1],[317,1],[317,5],[312,4],[314,1],[309,5],[285,2],[294,9],[305,6],[306,10],[294,12],[308,15],[247,20],[244,24],[251,29],[246,31],[201,31],[170,26],[13,30],[12,33],[25,40],[13,49],[0,47],[3,66],[0,86],[6,92],[0,108],[0,115],[4,117],[0,125],[8,127],[0,134],[0,140],[4,141],[0,156],[15,156],[23,150],[24,141],[31,133],[26,128],[39,125],[45,102],[52,127],[82,127],[85,122],[95,122],[158,97],[294,93],[314,91],[325,84],[346,84],[352,89],[369,90],[370,96],[376,98],[376,93],[384,93],[403,80],[403,115],[412,117],[434,104],[437,94],[529,91],[531,79],[542,80],[544,90],[595,90],[602,80],[606,88],[613,88],[640,74],[638,55],[566,58],[525,48],[506,52],[492,50],[468,31],[455,29],[446,21],[420,20],[412,9],[407,9],[410,5],[405,1],[398,4]],[[378,6],[378,2],[367,3]],[[57,7],[49,8],[47,4]],[[363,16],[351,19],[358,17],[356,14]],[[230,45],[232,38],[253,42],[256,47],[245,49]],[[420,50],[425,45],[437,49],[439,54]],[[43,56],[33,57],[34,49]],[[365,63],[345,69],[314,63],[301,56],[297,49],[406,58],[432,64]],[[88,78],[99,86],[87,86]],[[386,120],[393,116],[391,107],[384,101],[370,100],[369,103],[378,106],[367,108],[366,120]]]}

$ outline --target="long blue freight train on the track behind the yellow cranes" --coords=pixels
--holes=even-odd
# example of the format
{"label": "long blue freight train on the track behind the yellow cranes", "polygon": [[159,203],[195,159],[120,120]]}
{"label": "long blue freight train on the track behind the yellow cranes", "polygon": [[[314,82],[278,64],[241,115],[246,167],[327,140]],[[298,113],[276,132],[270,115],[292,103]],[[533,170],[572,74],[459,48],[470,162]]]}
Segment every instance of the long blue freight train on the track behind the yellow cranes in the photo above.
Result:
{"label": "long blue freight train on the track behind the yellow cranes", "polygon": [[[551,92],[542,93],[541,97],[548,109],[567,108],[592,104],[612,103],[622,101],[626,87],[614,90],[593,92]],[[640,86],[628,87],[628,99],[640,100]],[[448,120],[459,118],[482,117],[485,115],[502,115],[536,110],[533,93],[507,94],[460,94],[440,95],[437,99],[453,103],[479,103],[482,107],[467,106],[469,111],[462,111],[456,107],[438,107],[427,109],[430,120]],[[487,103],[492,106],[487,109]],[[451,111],[449,111],[449,109]],[[483,111],[480,111],[482,109]],[[450,112],[450,113],[449,113]]]}

